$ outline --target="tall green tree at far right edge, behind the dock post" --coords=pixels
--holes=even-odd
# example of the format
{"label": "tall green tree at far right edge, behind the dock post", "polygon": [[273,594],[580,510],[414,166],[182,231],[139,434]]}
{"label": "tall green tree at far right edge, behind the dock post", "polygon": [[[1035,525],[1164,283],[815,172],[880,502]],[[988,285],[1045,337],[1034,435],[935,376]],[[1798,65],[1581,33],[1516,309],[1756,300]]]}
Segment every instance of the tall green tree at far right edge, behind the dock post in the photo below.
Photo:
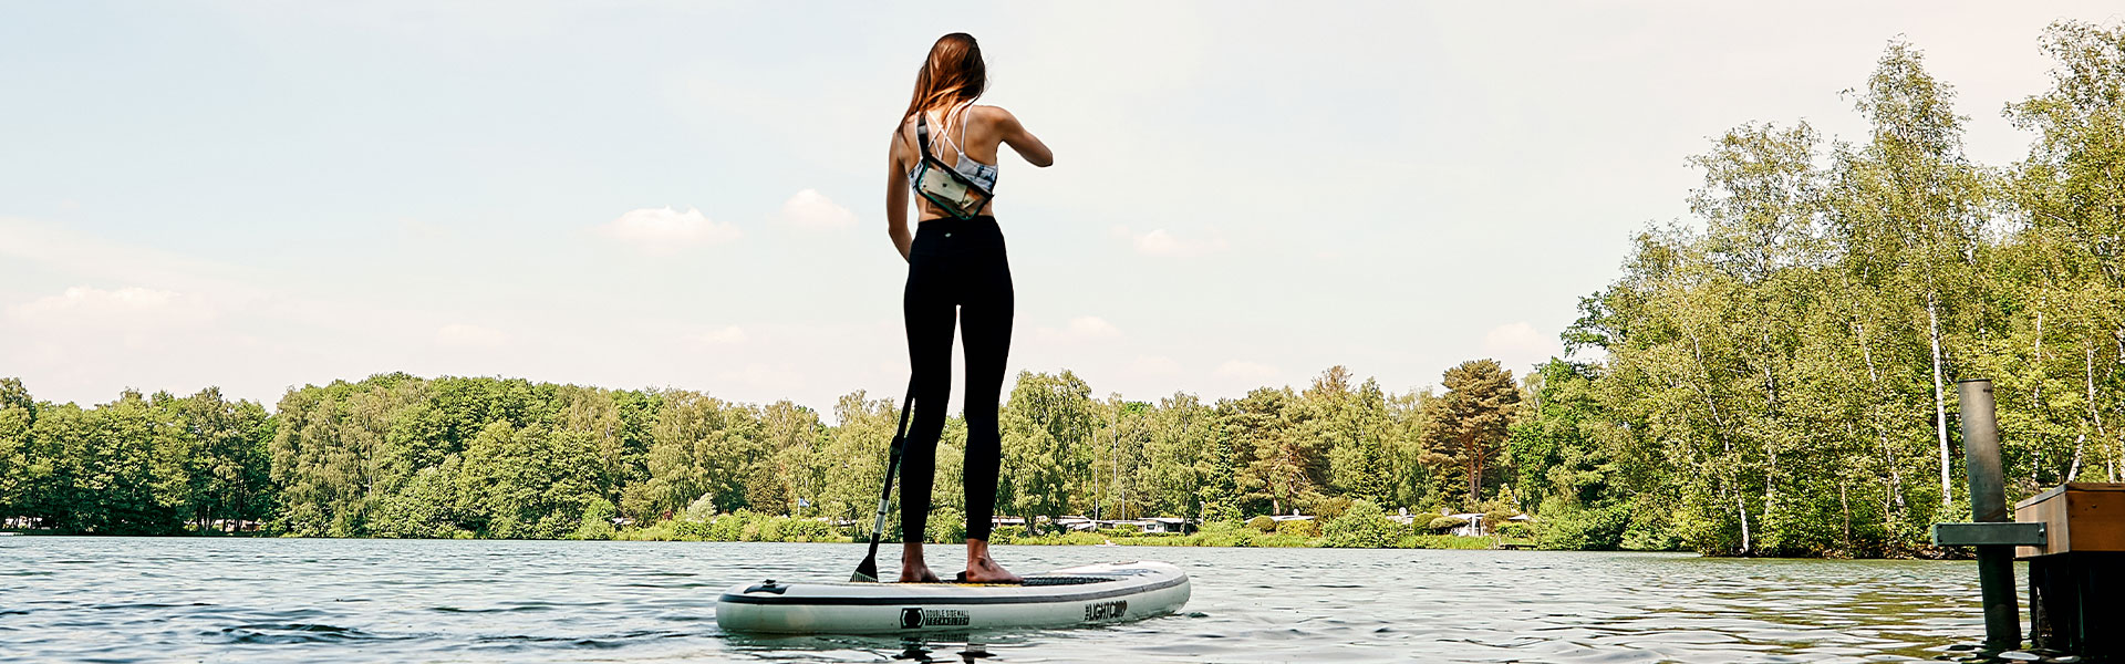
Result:
{"label": "tall green tree at far right edge, behind the dock post", "polygon": [[[2032,370],[2023,385],[2032,411],[2027,432],[2044,434],[2057,453],[2046,458],[2032,449],[2023,455],[2032,460],[2032,475],[2076,481],[2100,468],[2104,481],[2121,481],[2125,28],[2061,21],[2046,30],[2042,47],[2055,62],[2051,89],[2008,106],[2014,126],[2036,132],[2029,155],[2012,168],[2008,192],[2027,219],[2029,251],[2021,262],[2029,266],[2036,300],[2025,315],[2029,351],[2010,366]],[[2019,400],[2021,392],[2004,400]],[[2002,426],[2014,424],[2002,415]]]}

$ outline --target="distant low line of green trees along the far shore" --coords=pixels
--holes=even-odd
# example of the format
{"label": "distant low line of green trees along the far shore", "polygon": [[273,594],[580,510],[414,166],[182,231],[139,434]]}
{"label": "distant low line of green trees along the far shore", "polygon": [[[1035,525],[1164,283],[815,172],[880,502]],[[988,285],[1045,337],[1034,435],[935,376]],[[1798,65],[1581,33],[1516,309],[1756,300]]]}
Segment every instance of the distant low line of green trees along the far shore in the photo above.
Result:
{"label": "distant low line of green trees along the far shore", "polygon": [[[1022,372],[1001,411],[999,513],[1241,521],[1354,500],[1475,509],[1509,477],[1519,387],[1496,362],[1441,396],[1324,370],[1309,387],[1203,402],[1094,398]],[[688,389],[601,389],[402,372],[289,389],[272,413],[125,392],[81,409],[0,381],[0,515],[104,534],[557,538],[716,513],[863,528],[897,426],[890,398],[833,413]],[[939,441],[933,521],[960,519],[965,421]],[[1511,500],[1507,500],[1511,502]]]}

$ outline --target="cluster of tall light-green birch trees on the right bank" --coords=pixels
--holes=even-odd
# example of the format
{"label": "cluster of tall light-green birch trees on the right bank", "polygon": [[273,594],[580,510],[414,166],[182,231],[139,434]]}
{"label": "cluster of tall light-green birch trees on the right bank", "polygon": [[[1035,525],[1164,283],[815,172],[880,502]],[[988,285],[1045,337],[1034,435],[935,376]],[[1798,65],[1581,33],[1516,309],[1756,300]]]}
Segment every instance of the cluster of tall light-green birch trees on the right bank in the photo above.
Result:
{"label": "cluster of tall light-green birch trees on the right bank", "polygon": [[[1866,136],[1745,123],[1692,219],[1634,238],[1534,372],[1524,485],[1585,541],[1919,555],[1970,515],[1955,383],[1991,379],[2010,498],[2125,475],[2125,28],[2055,23],[2006,166],[1923,53],[1847,92]],[[1547,481],[1545,481],[1547,479]]]}

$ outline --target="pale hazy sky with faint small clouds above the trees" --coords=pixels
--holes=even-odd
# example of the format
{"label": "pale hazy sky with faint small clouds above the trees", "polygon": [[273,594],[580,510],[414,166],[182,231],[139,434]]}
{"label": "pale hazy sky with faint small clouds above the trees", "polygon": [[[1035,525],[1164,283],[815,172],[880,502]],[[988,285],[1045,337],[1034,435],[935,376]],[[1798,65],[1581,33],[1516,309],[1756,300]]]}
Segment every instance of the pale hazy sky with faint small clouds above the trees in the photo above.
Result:
{"label": "pale hazy sky with faint small clouds above the trees", "polygon": [[[0,377],[272,406],[404,370],[831,411],[907,381],[884,153],[946,32],[1005,153],[1009,370],[1390,392],[1562,353],[1685,157],[1844,140],[1904,38],[1968,151],[2114,2],[6,2]],[[954,360],[954,370],[963,362]],[[954,385],[952,411],[960,387]]]}

